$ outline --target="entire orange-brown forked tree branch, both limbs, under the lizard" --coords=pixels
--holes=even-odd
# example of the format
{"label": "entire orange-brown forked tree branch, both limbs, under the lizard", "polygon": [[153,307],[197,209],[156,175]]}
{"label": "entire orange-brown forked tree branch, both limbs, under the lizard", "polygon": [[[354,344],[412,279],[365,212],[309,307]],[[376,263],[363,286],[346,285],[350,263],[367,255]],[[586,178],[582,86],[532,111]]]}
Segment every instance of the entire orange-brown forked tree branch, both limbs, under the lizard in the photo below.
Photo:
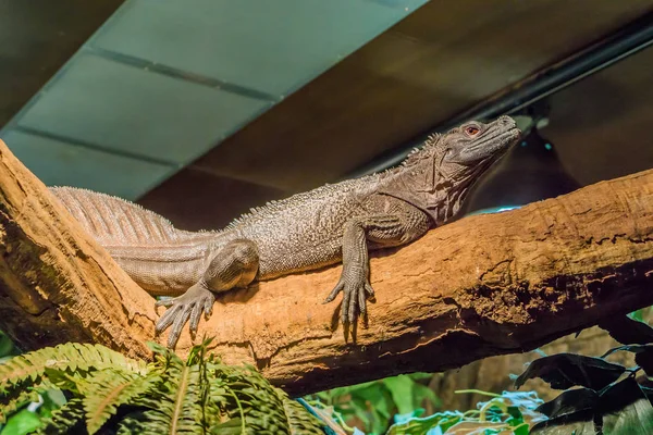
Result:
{"label": "entire orange-brown forked tree branch, both limbs, under the lizard", "polygon": [[[0,145],[0,330],[26,350],[84,340],[148,357],[153,299]],[[213,337],[225,362],[299,395],[533,349],[653,304],[652,191],[646,171],[375,252],[377,303],[354,340],[321,303],[333,266],[224,294],[177,353]]]}

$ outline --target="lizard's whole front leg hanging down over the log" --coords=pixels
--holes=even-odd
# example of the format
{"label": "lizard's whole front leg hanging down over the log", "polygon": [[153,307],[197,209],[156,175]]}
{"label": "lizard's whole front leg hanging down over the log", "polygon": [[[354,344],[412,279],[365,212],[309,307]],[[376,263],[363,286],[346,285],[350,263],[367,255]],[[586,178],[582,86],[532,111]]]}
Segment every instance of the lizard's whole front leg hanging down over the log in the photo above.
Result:
{"label": "lizard's whole front leg hanging down over the log", "polygon": [[369,282],[368,241],[374,248],[399,246],[423,235],[430,220],[421,210],[395,198],[384,198],[385,213],[354,217],[343,231],[343,272],[324,300],[331,302],[343,291],[341,321],[354,324],[358,314],[367,312],[366,300],[374,296]]}

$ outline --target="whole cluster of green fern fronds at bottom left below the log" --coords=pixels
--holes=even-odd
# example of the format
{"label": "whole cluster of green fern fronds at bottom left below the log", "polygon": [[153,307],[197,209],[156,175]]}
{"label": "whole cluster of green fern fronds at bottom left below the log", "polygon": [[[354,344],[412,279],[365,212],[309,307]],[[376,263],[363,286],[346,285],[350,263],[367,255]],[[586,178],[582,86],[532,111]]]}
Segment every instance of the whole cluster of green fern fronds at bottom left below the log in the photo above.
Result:
{"label": "whole cluster of green fern fronds at bottom left below the log", "polygon": [[150,344],[151,364],[77,344],[15,357],[0,364],[5,403],[0,417],[32,399],[40,389],[36,385],[56,386],[74,397],[52,412],[42,434],[322,433],[317,418],[256,369],[222,364],[207,355],[209,344],[196,346],[186,362],[156,344]]}

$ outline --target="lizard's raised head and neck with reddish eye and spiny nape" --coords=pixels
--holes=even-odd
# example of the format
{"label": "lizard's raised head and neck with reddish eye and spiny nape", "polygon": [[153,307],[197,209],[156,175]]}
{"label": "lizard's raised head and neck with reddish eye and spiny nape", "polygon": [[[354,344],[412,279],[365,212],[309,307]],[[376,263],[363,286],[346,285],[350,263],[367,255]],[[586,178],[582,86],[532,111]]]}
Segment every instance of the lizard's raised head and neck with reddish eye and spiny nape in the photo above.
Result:
{"label": "lizard's raised head and neck with reddish eye and spiny nape", "polygon": [[520,134],[512,117],[501,116],[489,123],[470,121],[433,135],[389,173],[382,192],[424,210],[440,224],[458,212],[471,185]]}

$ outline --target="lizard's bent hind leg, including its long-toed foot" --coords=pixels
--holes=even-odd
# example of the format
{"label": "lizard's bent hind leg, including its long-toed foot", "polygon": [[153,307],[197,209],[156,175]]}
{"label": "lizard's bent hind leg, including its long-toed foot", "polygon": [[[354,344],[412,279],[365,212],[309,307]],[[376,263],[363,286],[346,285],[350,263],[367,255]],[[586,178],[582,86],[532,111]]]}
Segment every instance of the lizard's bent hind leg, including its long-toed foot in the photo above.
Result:
{"label": "lizard's bent hind leg, including its long-toed foot", "polygon": [[204,313],[206,318],[211,314],[215,301],[213,294],[246,287],[255,279],[258,268],[259,254],[254,241],[247,239],[230,241],[213,256],[200,279],[186,293],[174,299],[157,301],[157,307],[168,307],[157,322],[157,334],[172,325],[168,336],[168,347],[173,348],[186,322],[190,323],[190,333],[197,333],[201,314]]}

